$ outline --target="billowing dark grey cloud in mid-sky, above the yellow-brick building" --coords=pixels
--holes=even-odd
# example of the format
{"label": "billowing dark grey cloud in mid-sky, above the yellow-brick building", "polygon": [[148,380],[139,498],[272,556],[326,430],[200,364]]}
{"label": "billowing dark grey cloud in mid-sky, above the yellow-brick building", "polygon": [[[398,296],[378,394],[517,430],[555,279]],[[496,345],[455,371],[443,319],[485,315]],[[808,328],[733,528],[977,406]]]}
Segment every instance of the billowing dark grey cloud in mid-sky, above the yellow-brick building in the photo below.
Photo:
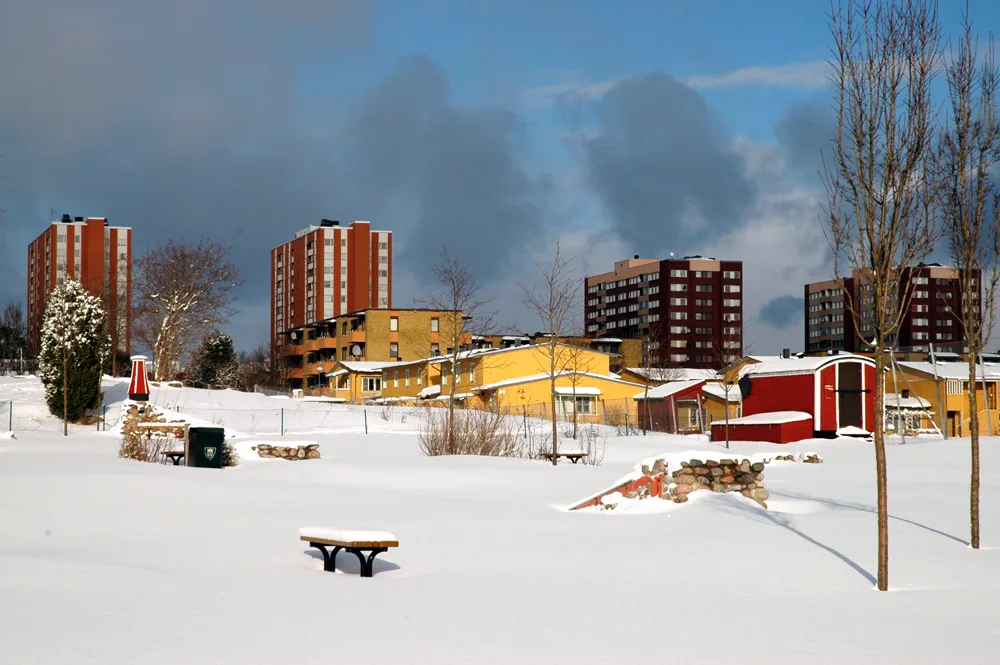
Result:
{"label": "billowing dark grey cloud in mid-sky, above the yellow-brick building", "polygon": [[350,207],[409,230],[396,258],[414,274],[427,273],[428,257],[446,243],[475,258],[483,280],[498,278],[511,251],[547,222],[552,185],[520,166],[524,142],[512,111],[459,108],[442,67],[403,59],[345,133]]}

